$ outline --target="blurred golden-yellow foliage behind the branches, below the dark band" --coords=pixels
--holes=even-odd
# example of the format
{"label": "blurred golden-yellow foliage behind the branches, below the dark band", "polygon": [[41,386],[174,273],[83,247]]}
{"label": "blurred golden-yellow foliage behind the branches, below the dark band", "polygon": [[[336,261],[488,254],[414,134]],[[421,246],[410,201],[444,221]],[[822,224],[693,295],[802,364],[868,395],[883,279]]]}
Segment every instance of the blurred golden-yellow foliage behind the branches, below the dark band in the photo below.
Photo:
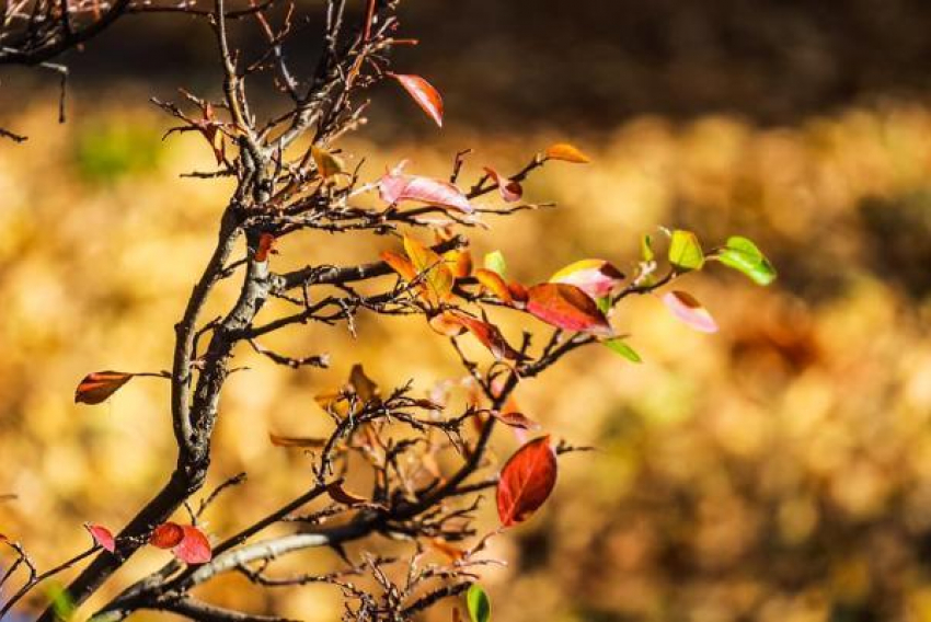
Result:
{"label": "blurred golden-yellow foliage behind the branches, below the dark band", "polygon": [[[54,114],[23,112],[15,127],[32,139],[0,143],[0,492],[20,496],[0,506],[0,531],[45,566],[87,544],[83,521],[127,520],[173,463],[161,380],[138,379],[96,407],[71,396],[89,371],[169,366],[172,326],[229,189],[179,178],[211,165],[209,147],[194,135],[151,140],[164,119],[149,111],[104,106],[48,126]],[[587,137],[363,136],[346,149],[367,154],[371,175],[406,157],[439,176],[464,147],[476,149],[475,174],[517,169],[556,139],[593,163],[548,165],[527,196],[561,207],[480,232],[476,257],[501,249],[526,280],[579,256],[624,268],[641,235],[664,224],[697,231],[705,247],[748,235],[780,279],[760,289],[711,266],[687,288],[721,333],[690,332],[657,299],[636,299],[617,327],[642,365],[594,348],[519,389],[521,410],[552,434],[599,450],[566,457],[552,504],[493,541],[510,561],[483,580],[495,619],[931,620],[931,108],[886,104],[777,128],[644,115]],[[106,184],[85,183],[114,162]],[[275,267],[398,246],[335,240],[284,240]],[[228,533],[301,489],[300,453],[273,448],[267,431],[324,429],[312,396],[352,364],[382,385],[415,378],[425,392],[455,369],[421,322],[363,320],[358,331],[354,342],[304,326],[268,344],[329,350],[327,371],[239,353],[250,369],[225,393],[211,480],[244,470],[250,481],[208,512],[208,530]],[[501,456],[516,447],[507,434],[498,444]],[[165,560],[146,551],[119,577]],[[290,563],[333,561],[317,551]],[[238,577],[205,596],[312,622],[340,606],[326,588],[257,592]]]}

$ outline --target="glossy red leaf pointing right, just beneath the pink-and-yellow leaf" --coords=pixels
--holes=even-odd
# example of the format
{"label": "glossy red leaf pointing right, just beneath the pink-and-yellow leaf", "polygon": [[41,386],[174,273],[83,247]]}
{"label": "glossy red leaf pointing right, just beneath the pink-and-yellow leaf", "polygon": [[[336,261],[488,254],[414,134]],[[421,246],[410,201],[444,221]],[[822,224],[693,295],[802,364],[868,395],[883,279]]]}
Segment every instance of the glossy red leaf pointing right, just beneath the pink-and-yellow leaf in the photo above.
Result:
{"label": "glossy red leaf pointing right, just beneath the pink-and-yellow leaf", "polygon": [[574,285],[543,283],[527,290],[527,311],[565,329],[600,336],[612,334],[608,319],[591,298]]}

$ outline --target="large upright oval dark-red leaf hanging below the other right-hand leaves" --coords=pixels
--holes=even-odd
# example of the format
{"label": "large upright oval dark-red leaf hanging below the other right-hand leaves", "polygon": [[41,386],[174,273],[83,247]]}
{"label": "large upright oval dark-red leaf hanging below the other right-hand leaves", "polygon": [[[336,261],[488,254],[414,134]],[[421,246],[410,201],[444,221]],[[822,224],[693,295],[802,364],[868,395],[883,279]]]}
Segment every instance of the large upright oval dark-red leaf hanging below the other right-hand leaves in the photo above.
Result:
{"label": "large upright oval dark-red leaf hanging below the other right-hand leaves", "polygon": [[556,454],[550,437],[537,438],[510,457],[497,487],[498,517],[503,527],[524,522],[549,498],[556,485]]}

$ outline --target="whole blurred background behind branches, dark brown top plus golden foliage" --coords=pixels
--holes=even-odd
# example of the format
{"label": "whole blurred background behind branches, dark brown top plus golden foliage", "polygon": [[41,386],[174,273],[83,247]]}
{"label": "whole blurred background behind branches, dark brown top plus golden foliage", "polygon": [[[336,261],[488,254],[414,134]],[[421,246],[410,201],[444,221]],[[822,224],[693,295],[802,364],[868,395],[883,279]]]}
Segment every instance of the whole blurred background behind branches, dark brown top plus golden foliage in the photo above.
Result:
{"label": "whole blurred background behind branches, dark brown top plus golden foliage", "polygon": [[[521,385],[528,415],[598,451],[566,457],[552,504],[494,541],[509,562],[483,579],[495,619],[931,621],[931,3],[409,0],[402,14],[422,43],[394,67],[444,93],[447,123],[437,131],[379,87],[370,125],[344,143],[370,175],[411,158],[441,176],[472,148],[470,180],[556,140],[593,159],[548,165],[527,196],[559,209],[476,235],[478,256],[501,249],[528,281],[581,257],[630,267],[662,224],[706,246],[748,235],[780,270],[768,289],[720,267],[690,276],[721,326],[711,336],[631,300],[616,325],[643,365],[587,350]],[[62,59],[64,125],[56,76],[0,76],[0,126],[30,136],[0,141],[0,493],[19,495],[0,505],[0,532],[46,567],[87,545],[81,522],[122,526],[174,460],[161,381],[96,407],[72,393],[89,371],[170,365],[229,187],[179,177],[210,168],[210,150],[194,135],[162,141],[169,119],[147,102],[217,93],[212,54],[204,24],[127,18]],[[368,261],[391,245],[321,235],[274,261]],[[325,430],[312,398],[352,364],[424,392],[455,372],[428,334],[364,319],[356,342],[309,326],[268,344],[329,350],[326,371],[242,350],[250,371],[225,393],[211,482],[250,483],[209,530],[302,489],[306,459],[266,434]],[[515,447],[503,434],[496,449]],[[165,558],[146,552],[102,597]],[[263,594],[231,577],[205,598],[340,615],[327,588]]]}

